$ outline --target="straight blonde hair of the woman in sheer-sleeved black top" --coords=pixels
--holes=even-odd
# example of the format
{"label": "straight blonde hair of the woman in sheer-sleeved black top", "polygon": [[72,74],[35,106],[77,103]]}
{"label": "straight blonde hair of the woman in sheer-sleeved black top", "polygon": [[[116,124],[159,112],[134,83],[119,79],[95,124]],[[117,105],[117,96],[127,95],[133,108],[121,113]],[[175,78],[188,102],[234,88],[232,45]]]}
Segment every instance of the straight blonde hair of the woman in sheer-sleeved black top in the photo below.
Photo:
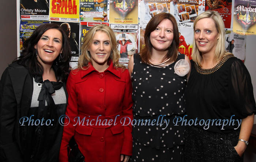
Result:
{"label": "straight blonde hair of the woman in sheer-sleeved black top", "polygon": [[[215,23],[217,32],[219,33],[219,39],[217,40],[213,61],[219,62],[224,56],[233,55],[232,53],[229,53],[225,50],[225,26],[218,12],[208,10],[198,15],[194,21],[194,26],[193,26],[194,32],[195,32],[196,23],[198,22],[198,20],[203,18],[211,18]],[[195,36],[194,36],[192,59],[193,61],[196,62],[197,65],[201,66],[201,58],[202,58],[202,53],[198,50],[196,46]]]}

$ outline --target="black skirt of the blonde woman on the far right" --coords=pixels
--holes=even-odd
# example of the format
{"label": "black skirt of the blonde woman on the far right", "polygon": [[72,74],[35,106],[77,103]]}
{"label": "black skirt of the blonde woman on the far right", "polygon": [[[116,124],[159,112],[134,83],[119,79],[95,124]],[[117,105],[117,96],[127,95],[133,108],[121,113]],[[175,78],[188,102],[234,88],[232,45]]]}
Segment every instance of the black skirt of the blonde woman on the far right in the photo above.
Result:
{"label": "black skirt of the blonde woman on the far right", "polygon": [[234,146],[240,130],[227,134],[209,132],[193,126],[185,131],[185,162],[242,162]]}

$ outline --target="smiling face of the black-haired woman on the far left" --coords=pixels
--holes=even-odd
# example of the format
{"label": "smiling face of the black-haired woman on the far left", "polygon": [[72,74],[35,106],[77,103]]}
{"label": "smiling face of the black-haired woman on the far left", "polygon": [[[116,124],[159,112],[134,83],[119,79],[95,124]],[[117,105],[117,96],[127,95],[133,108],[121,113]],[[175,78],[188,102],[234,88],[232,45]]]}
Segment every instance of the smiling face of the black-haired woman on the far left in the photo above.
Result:
{"label": "smiling face of the black-haired woman on the far left", "polygon": [[41,36],[37,44],[37,59],[44,64],[52,65],[53,61],[62,53],[62,35],[57,29],[49,29]]}

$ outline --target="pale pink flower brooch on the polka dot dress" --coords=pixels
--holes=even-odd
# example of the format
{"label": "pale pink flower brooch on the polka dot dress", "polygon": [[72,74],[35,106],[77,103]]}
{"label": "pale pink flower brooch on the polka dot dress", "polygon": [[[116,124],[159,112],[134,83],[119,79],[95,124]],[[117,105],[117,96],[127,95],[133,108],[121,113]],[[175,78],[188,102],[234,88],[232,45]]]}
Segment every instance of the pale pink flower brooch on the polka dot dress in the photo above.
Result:
{"label": "pale pink flower brooch on the polka dot dress", "polygon": [[180,59],[174,65],[174,72],[178,76],[181,76],[181,77],[183,77],[186,74],[188,74],[189,69],[190,69],[189,63],[185,59]]}

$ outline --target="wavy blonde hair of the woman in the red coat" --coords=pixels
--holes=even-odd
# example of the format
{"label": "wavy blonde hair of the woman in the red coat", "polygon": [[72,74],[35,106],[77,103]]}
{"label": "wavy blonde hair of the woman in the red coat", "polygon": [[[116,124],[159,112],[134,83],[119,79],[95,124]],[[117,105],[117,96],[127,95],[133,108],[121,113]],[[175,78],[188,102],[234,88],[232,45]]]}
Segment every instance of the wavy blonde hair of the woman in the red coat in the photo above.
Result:
{"label": "wavy blonde hair of the woman in the red coat", "polygon": [[[118,51],[117,51],[117,41],[116,41],[116,36],[115,36],[113,30],[109,26],[106,26],[105,24],[99,24],[99,25],[93,26],[89,30],[89,32],[86,33],[86,35],[83,39],[83,45],[81,48],[82,54],[79,56],[79,59],[78,59],[78,70],[80,70],[80,69],[86,70],[89,68],[88,63],[89,62],[92,63],[91,55],[88,50],[93,42],[93,37],[97,31],[105,32],[109,36],[110,46],[111,46],[111,53],[110,53],[109,58],[112,59],[113,66],[115,68],[120,67],[122,69],[125,69],[125,66],[120,65],[118,63],[120,55],[118,54]],[[86,68],[84,68],[84,67],[86,67]]]}

